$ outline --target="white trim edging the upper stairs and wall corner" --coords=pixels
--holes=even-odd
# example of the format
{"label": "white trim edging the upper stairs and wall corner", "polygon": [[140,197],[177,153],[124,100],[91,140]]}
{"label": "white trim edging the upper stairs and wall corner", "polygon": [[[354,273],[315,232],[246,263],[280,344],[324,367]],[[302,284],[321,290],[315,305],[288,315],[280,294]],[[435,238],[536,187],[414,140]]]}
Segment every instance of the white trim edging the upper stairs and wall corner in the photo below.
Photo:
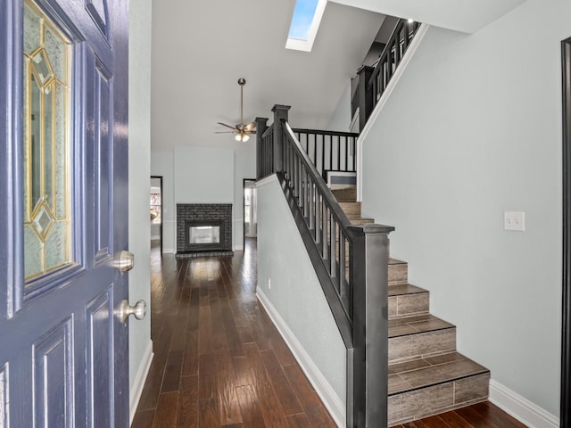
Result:
{"label": "white trim edging the upper stairs and wall corner", "polygon": [[412,55],[418,49],[418,45],[426,35],[426,31],[430,28],[428,24],[421,24],[417,30],[417,34],[413,37],[412,41],[410,42],[410,46],[407,49],[407,52],[404,53],[402,60],[394,71],[393,78],[389,81],[389,84],[386,86],[385,92],[381,95],[381,99],[378,100],[377,105],[373,109],[373,112],[369,116],[367,123],[365,124],[365,128],[360,132],[359,138],[357,138],[357,202],[362,202],[363,200],[363,140],[367,138],[368,132],[371,130],[373,123],[377,121],[377,117],[383,107],[385,107],[386,102],[388,101],[391,94],[393,94],[394,87],[401,79],[404,70],[406,70],[407,66],[409,65],[410,59]]}

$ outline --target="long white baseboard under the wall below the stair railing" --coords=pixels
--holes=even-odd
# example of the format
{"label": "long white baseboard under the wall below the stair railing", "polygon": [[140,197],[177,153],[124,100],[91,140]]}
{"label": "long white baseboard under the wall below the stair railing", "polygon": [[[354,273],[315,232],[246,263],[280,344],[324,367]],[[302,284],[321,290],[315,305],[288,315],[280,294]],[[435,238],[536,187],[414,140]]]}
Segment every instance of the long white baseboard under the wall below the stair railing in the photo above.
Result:
{"label": "long white baseboard under the wall below the stair railing", "polygon": [[346,411],[343,402],[327,382],[325,376],[321,374],[319,367],[311,360],[310,355],[303,349],[302,343],[297,340],[294,332],[292,332],[287,324],[285,324],[284,318],[277,313],[276,308],[274,308],[260,288],[256,288],[256,296],[258,297],[258,300],[260,300],[264,309],[266,309],[266,312],[268,312],[268,315],[274,325],[276,325],[277,331],[281,334],[285,343],[294,354],[294,358],[297,360],[297,363],[302,367],[303,373],[309,379],[325,407],[327,407],[327,410],[335,421],[335,424],[340,428],[344,428]]}

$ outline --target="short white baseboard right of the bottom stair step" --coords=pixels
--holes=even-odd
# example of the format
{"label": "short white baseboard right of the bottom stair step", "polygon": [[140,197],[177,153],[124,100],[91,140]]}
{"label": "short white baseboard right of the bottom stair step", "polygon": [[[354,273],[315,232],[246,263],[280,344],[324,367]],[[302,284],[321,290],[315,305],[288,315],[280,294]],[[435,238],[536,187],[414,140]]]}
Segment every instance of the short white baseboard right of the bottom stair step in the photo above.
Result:
{"label": "short white baseboard right of the bottom stair step", "polygon": [[559,428],[556,416],[493,379],[490,380],[490,401],[529,428]]}

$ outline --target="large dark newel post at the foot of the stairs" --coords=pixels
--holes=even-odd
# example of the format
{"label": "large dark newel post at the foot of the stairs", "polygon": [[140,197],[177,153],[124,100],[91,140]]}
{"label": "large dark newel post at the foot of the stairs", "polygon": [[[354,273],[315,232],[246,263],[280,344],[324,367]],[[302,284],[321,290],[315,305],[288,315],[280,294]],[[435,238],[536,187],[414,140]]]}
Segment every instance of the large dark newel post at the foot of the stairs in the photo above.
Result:
{"label": "large dark newel post at the foot of the stairs", "polygon": [[[387,424],[388,235],[392,226],[349,226],[353,235],[353,427]],[[352,378],[351,378],[352,376]],[[350,419],[352,417],[352,420]]]}

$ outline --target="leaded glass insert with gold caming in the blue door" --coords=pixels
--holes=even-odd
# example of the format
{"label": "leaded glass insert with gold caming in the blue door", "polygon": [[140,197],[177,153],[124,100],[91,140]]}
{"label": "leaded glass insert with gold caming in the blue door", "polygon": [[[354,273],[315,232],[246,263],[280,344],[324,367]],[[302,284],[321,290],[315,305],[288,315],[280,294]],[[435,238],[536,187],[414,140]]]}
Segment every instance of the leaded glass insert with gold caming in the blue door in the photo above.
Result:
{"label": "leaded glass insert with gold caming in the blue door", "polygon": [[36,4],[24,4],[24,271],[71,263],[70,42]]}

